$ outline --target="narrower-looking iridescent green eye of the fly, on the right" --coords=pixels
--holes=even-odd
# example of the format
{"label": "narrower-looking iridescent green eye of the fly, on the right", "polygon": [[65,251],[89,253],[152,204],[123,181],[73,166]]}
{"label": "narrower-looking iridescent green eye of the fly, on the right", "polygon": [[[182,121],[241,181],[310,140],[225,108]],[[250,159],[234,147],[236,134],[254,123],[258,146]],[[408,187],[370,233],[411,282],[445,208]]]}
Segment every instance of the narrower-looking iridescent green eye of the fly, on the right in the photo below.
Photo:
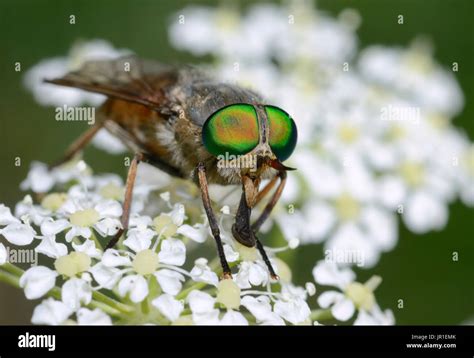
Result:
{"label": "narrower-looking iridescent green eye of the fly, on the right", "polygon": [[270,125],[270,148],[280,161],[288,159],[296,146],[296,124],[288,113],[274,106],[265,106]]}

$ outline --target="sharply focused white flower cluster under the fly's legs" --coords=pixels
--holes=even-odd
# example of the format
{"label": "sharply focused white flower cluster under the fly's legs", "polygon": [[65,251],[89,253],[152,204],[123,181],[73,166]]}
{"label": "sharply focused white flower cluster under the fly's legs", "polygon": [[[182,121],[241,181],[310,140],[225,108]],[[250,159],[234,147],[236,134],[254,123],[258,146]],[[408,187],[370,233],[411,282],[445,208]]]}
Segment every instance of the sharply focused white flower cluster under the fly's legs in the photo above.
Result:
{"label": "sharply focused white flower cluster under the fly's legs", "polygon": [[[160,176],[158,171],[153,174]],[[276,257],[298,242],[267,248],[280,276],[273,282],[258,251],[231,239],[228,224],[234,218],[227,206],[219,220],[234,277],[219,281],[217,258],[190,260],[199,247],[196,243],[210,236],[207,221],[191,220],[192,211],[203,217],[201,206],[196,206],[199,201],[192,200],[198,193],[183,194],[181,188],[180,195],[188,201],[173,203],[178,194],[164,191],[173,182],[157,190],[158,185],[151,186],[142,177],[136,191],[146,194],[135,200],[125,238],[107,250],[106,243],[121,228],[123,182],[112,174],[93,175],[82,160],[52,171],[34,163],[22,186],[31,189],[38,203],[27,195],[14,214],[0,204],[0,235],[10,246],[33,246],[40,255],[39,264],[23,272],[8,262],[7,249],[0,243],[0,280],[9,277],[11,283],[13,278],[30,300],[48,296],[35,308],[33,323],[312,324],[328,318],[347,321],[357,309],[357,324],[393,324],[391,314],[381,313],[375,303],[374,285],[353,282],[352,271],[338,272],[326,262],[316,266],[315,281],[335,285],[344,294],[323,293],[318,302],[326,310],[312,311],[314,283],[292,284],[291,269]],[[152,218],[144,214],[150,208],[140,198],[152,198],[154,193],[159,195],[150,201],[159,205],[153,207],[158,213]]]}

